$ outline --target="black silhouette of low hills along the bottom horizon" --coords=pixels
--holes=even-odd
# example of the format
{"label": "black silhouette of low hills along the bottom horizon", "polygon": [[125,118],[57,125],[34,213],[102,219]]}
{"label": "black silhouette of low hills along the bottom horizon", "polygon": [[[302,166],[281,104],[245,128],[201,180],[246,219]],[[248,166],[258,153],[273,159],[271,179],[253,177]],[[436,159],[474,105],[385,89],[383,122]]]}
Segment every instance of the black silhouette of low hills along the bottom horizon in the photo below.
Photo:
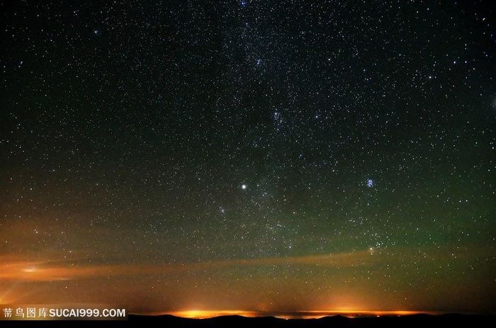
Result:
{"label": "black silhouette of low hills along the bottom horizon", "polygon": [[[491,324],[492,322],[492,324]],[[171,327],[171,328],[298,328],[298,327],[492,327],[493,315],[404,315],[381,317],[322,317],[280,319],[230,315],[209,319],[188,319],[173,315],[129,315],[122,321],[0,321],[0,327]]]}

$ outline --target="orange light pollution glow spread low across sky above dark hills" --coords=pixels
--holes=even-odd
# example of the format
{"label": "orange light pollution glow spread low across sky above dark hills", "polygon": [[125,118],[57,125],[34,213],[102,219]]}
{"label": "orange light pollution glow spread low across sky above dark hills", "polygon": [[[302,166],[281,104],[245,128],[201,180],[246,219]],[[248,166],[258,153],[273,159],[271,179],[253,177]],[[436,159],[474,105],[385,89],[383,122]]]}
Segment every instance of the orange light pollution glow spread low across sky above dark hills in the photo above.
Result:
{"label": "orange light pollution glow spread low across sky above dark hills", "polygon": [[[413,313],[446,312],[435,307],[436,300],[443,295],[452,295],[477,304],[477,295],[466,294],[473,286],[463,285],[461,279],[457,290],[443,285],[442,280],[433,280],[433,285],[424,286],[417,295],[403,292],[393,281],[390,284],[378,278],[367,278],[356,283],[343,280],[356,271],[374,270],[383,272],[390,263],[404,259],[423,259],[432,266],[446,258],[450,249],[429,251],[429,259],[422,252],[386,252],[363,249],[361,251],[337,254],[315,254],[289,257],[268,257],[259,259],[232,259],[220,261],[198,261],[185,264],[87,264],[82,259],[84,252],[73,252],[72,257],[63,258],[58,251],[40,256],[0,256],[0,303],[62,303],[77,302],[106,303],[125,306],[137,314],[171,314],[180,317],[215,317],[218,315],[244,315],[248,317],[272,315],[282,318],[314,318],[326,315],[407,315]],[[485,249],[458,251],[457,260],[466,261],[473,256],[487,256]],[[315,285],[335,281],[332,290],[308,289],[306,283],[294,273],[277,281],[264,275],[256,276],[261,270],[286,270],[291,272],[323,272]],[[222,278],[222,273],[232,271],[240,277],[251,276],[232,285]],[[237,273],[240,271],[240,273]],[[270,272],[270,271],[269,271]],[[387,271],[386,271],[387,272]],[[270,274],[270,273],[269,273]],[[167,277],[164,279],[162,277]],[[192,278],[191,278],[192,277]],[[210,281],[194,285],[201,277]],[[463,278],[463,277],[461,277]],[[140,282],[140,285],[137,284]],[[272,284],[271,284],[272,282]],[[412,285],[415,280],[410,281]],[[389,290],[378,286],[387,285]],[[252,288],[257,286],[257,288]],[[235,295],[225,296],[225,290]],[[398,288],[396,292],[391,292]],[[100,290],[106,290],[101,293]],[[288,290],[281,293],[280,290]],[[292,293],[297,293],[293,296]],[[481,292],[482,293],[482,292]],[[150,294],[154,295],[150,297]],[[164,297],[163,295],[167,295]],[[299,300],[295,300],[299,298]],[[260,299],[264,300],[263,302]],[[147,307],[140,307],[141,300],[148,300]],[[178,301],[181,300],[181,301]],[[454,301],[453,301],[454,304]],[[239,310],[227,310],[237,305]],[[209,308],[210,307],[210,308]],[[193,309],[193,310],[192,310]],[[325,309],[325,310],[322,310]],[[470,312],[458,310],[458,312]]]}

